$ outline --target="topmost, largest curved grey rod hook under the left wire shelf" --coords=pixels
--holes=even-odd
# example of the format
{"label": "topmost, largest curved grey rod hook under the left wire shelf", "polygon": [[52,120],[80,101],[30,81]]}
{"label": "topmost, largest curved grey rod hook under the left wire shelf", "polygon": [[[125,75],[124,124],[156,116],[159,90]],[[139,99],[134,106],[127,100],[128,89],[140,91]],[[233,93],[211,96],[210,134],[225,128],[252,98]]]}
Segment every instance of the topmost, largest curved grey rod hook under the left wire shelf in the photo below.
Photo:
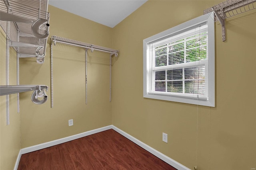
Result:
{"label": "topmost, largest curved grey rod hook under the left wire shelf", "polygon": [[[40,38],[40,39],[46,39],[46,38],[49,36],[49,26],[50,26],[50,24],[49,24],[49,23],[46,23],[46,22],[47,22],[47,20],[42,19],[42,18],[38,18],[38,20],[36,20],[36,21],[32,24],[32,26],[31,26],[31,31],[32,31],[32,33],[33,33],[33,35],[34,35],[35,37]],[[46,30],[45,30],[44,34],[40,34],[40,33],[38,32],[39,27],[40,27],[41,25],[43,25],[44,23],[46,23]]]}

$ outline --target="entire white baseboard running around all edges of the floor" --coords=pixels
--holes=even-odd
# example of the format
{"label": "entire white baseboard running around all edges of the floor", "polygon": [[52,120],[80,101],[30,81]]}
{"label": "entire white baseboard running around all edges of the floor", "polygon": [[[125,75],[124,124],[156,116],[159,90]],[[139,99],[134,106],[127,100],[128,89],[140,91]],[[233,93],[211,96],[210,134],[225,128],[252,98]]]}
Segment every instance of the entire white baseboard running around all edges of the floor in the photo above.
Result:
{"label": "entire white baseboard running around all edges of the floor", "polygon": [[99,128],[99,129],[94,129],[94,130],[87,131],[87,132],[84,132],[84,133],[79,133],[77,135],[72,135],[70,137],[65,137],[65,138],[62,138],[62,139],[57,139],[57,140],[54,140],[54,141],[42,143],[42,144],[39,144],[39,145],[34,145],[32,147],[23,148],[23,149],[20,150],[20,152],[18,154],[14,170],[17,170],[17,168],[18,168],[18,164],[20,162],[21,154],[25,154],[25,153],[33,152],[33,151],[36,151],[36,150],[52,147],[54,145],[58,145],[58,144],[61,144],[61,143],[65,143],[65,142],[68,142],[68,141],[79,139],[81,137],[86,137],[88,135],[92,135],[92,134],[95,134],[95,133],[98,133],[98,132],[102,132],[102,131],[106,131],[106,130],[109,130],[109,129],[113,129],[114,131],[120,133],[121,135],[123,135],[124,137],[129,139],[130,141],[136,143],[137,145],[139,145],[143,149],[145,149],[148,152],[152,153],[153,155],[155,155],[156,157],[160,158],[164,162],[170,164],[174,168],[176,168],[178,170],[190,170],[189,168],[187,168],[186,166],[180,164],[179,162],[176,162],[175,160],[173,160],[173,159],[169,158],[168,156],[162,154],[161,152],[157,151],[156,149],[146,145],[142,141],[139,141],[138,139],[132,137],[131,135],[129,135],[128,133],[122,131],[121,129],[118,129],[114,125],[105,126],[105,127]]}

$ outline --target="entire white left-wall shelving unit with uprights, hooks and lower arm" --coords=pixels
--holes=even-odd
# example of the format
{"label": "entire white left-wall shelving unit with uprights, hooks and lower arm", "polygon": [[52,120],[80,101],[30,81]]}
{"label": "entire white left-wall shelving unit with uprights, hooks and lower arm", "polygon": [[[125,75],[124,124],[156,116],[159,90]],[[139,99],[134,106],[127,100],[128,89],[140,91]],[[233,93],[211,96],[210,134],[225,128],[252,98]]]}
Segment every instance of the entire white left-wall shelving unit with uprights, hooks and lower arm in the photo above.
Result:
{"label": "entire white left-wall shelving unit with uprights, hooks and lower arm", "polygon": [[[32,91],[31,100],[43,104],[48,96],[45,85],[19,85],[19,59],[37,57],[36,62],[44,63],[47,38],[49,36],[48,0],[0,0],[0,26],[6,34],[6,86],[0,86],[0,96],[6,95],[6,125],[9,125],[9,94]],[[17,85],[9,84],[9,49],[17,52]],[[38,97],[43,97],[39,100]]]}

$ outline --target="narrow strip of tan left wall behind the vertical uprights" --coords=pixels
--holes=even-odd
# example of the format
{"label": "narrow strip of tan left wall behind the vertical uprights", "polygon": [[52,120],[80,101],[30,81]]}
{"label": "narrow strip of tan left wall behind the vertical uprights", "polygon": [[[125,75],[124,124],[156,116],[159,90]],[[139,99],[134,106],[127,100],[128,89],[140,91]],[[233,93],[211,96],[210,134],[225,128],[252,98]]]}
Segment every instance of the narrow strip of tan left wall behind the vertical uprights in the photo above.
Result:
{"label": "narrow strip of tan left wall behind the vertical uprights", "polygon": [[[9,84],[16,85],[17,53],[10,48]],[[0,28],[0,85],[6,85],[6,35]],[[14,168],[20,151],[20,114],[17,113],[17,95],[9,95],[9,119],[6,125],[6,96],[0,96],[0,169]]]}

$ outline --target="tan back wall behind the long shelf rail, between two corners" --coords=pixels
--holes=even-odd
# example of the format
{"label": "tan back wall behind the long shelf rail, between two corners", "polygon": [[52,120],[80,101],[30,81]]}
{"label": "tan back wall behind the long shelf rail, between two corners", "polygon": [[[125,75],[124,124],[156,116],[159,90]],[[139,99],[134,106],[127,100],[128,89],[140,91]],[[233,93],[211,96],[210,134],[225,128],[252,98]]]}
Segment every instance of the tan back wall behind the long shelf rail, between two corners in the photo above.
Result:
{"label": "tan back wall behind the long shelf rail, between two corners", "polygon": [[[86,10],[87,7],[85,7]],[[89,8],[89,7],[88,7]],[[50,36],[112,47],[112,29],[49,6]],[[44,64],[35,59],[20,60],[20,84],[50,87],[50,47]],[[88,51],[88,104],[85,104],[85,51],[56,44],[53,47],[54,107],[31,102],[31,92],[20,94],[21,146],[68,137],[112,124],[109,102],[109,54]],[[74,126],[68,127],[68,119]]]}

